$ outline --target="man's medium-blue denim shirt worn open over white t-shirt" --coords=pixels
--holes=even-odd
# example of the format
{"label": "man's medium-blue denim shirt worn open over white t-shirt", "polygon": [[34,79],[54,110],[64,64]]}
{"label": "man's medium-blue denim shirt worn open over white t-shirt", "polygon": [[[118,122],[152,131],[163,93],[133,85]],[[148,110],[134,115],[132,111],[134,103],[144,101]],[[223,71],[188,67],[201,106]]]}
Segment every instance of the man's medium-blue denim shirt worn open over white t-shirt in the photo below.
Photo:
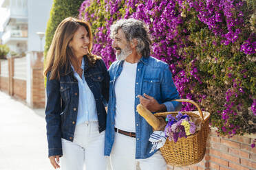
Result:
{"label": "man's medium-blue denim shirt worn open over white t-shirt", "polygon": [[[115,82],[122,72],[123,61],[116,61],[109,68],[109,105],[107,110],[107,126],[105,131],[105,156],[109,156],[114,143],[114,126],[116,115],[116,94]],[[152,127],[136,111],[136,106],[140,104],[137,95],[146,93],[154,97],[159,104],[165,104],[167,111],[174,111],[180,108],[180,103],[171,101],[179,99],[178,91],[173,83],[169,65],[156,58],[142,57],[137,65],[135,84],[135,127],[136,127],[136,159],[148,158],[156,151],[149,154],[151,143],[149,136],[152,134]],[[124,146],[125,147],[125,146]]]}

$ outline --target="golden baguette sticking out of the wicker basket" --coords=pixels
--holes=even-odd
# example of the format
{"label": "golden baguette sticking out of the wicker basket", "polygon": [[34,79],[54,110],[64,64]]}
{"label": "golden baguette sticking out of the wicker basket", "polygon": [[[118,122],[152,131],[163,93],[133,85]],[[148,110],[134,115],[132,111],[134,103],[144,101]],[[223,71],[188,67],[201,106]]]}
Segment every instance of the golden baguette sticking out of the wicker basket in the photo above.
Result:
{"label": "golden baguette sticking out of the wicker basket", "polygon": [[138,104],[137,106],[138,113],[142,116],[149,125],[153,127],[154,130],[158,130],[160,128],[160,120],[154,116],[147,108]]}

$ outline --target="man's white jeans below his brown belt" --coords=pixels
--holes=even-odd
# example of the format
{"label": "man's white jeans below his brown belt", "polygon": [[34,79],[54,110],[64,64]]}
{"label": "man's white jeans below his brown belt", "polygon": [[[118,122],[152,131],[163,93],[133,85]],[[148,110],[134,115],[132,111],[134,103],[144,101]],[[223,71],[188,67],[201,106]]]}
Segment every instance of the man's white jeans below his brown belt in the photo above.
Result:
{"label": "man's white jeans below his brown belt", "polygon": [[166,170],[167,163],[160,151],[146,159],[135,159],[136,138],[115,133],[115,141],[110,154],[112,170]]}

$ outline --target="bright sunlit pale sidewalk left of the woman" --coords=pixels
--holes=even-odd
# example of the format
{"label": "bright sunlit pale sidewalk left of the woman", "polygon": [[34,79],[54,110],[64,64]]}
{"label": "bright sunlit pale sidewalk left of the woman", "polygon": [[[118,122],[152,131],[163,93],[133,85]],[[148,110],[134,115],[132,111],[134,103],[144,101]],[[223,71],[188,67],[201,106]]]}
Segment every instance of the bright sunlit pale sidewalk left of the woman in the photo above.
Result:
{"label": "bright sunlit pale sidewalk left of the woman", "polygon": [[0,91],[0,114],[0,169],[52,170],[44,110],[32,110]]}

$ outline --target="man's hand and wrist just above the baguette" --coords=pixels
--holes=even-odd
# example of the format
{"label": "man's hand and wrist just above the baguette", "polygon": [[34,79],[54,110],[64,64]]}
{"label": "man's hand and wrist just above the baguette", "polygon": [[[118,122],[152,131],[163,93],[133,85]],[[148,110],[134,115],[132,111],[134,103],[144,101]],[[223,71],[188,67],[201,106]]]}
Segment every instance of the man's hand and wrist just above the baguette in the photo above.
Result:
{"label": "man's hand and wrist just above the baguette", "polygon": [[[144,96],[144,97],[143,97]],[[140,104],[142,106],[146,107],[151,112],[165,112],[167,110],[166,106],[164,104],[158,104],[158,101],[156,101],[155,98],[143,94],[143,96],[138,95],[140,98]]]}

